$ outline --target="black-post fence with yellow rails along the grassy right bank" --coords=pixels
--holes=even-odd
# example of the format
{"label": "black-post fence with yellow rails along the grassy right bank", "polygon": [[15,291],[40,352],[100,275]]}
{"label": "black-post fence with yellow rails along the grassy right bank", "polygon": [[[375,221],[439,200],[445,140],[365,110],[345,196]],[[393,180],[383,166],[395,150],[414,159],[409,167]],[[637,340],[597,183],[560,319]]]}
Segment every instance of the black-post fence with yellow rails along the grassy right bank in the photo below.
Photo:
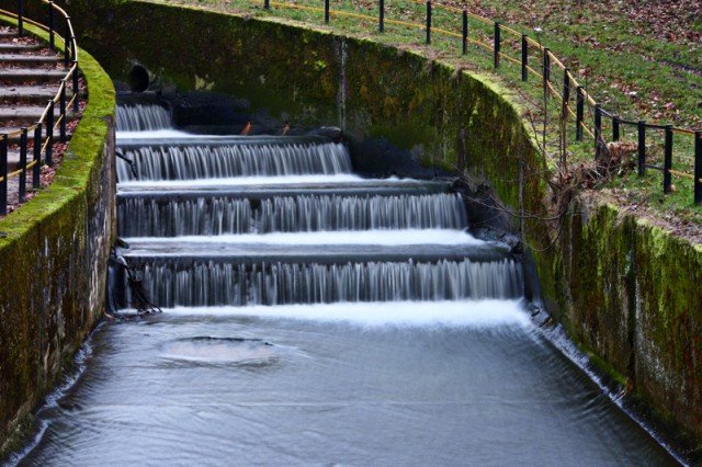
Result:
{"label": "black-post fence with yellow rails along the grassy right bank", "polygon": [[[423,33],[426,45],[432,43],[434,35],[458,39],[463,55],[468,53],[469,45],[477,46],[492,55],[494,68],[509,62],[519,67],[521,81],[528,82],[531,76],[535,77],[537,84],[543,87],[544,94],[561,104],[559,117],[570,122],[575,140],[592,140],[596,160],[604,156],[608,141],[616,143],[625,135],[633,135],[636,141],[638,175],[644,176],[647,169],[663,172],[665,194],[673,191],[672,176],[692,180],[694,204],[702,205],[702,130],[623,118],[618,113],[603,109],[563,60],[540,41],[500,22],[472,13],[466,4],[456,8],[430,0],[410,1],[423,7],[423,11],[407,12],[398,9],[404,15],[409,16],[401,20],[388,18],[390,9],[385,0],[377,0],[367,9],[375,10],[374,15],[332,10],[330,0],[322,0],[324,3],[319,7],[272,0],[262,0],[262,5],[269,12],[272,9],[292,9],[319,14],[326,24],[330,24],[336,18],[353,18],[371,24],[377,22],[380,33],[386,32],[388,24],[418,30]],[[248,3],[261,5],[261,0],[250,0]],[[423,21],[417,21],[418,16],[423,16]],[[440,27],[437,26],[438,18],[444,20]],[[605,135],[605,130],[611,137]],[[678,139],[678,144],[675,144],[673,135],[687,138],[687,141]],[[659,151],[656,145],[663,147],[661,157],[657,153]],[[677,153],[676,147],[679,147]]]}

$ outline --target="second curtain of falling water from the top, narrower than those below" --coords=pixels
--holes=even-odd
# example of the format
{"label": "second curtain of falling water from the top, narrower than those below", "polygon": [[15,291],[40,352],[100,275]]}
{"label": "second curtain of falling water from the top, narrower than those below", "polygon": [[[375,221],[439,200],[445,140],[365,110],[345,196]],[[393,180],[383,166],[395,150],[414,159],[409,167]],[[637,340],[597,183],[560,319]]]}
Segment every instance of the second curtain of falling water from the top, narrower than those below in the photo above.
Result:
{"label": "second curtain of falling water from the top, narrower than those below", "polygon": [[346,147],[335,143],[121,146],[121,149],[132,163],[117,159],[120,182],[351,172]]}

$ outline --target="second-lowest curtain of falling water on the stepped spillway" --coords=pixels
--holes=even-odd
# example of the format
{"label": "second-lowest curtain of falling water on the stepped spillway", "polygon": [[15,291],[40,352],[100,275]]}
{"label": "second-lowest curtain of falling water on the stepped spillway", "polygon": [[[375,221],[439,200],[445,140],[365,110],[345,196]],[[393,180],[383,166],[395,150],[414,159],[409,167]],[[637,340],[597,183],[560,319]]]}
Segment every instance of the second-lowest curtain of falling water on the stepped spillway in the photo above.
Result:
{"label": "second-lowest curtain of falling water on the stepped spillway", "polygon": [[467,227],[457,194],[121,197],[117,218],[122,237]]}

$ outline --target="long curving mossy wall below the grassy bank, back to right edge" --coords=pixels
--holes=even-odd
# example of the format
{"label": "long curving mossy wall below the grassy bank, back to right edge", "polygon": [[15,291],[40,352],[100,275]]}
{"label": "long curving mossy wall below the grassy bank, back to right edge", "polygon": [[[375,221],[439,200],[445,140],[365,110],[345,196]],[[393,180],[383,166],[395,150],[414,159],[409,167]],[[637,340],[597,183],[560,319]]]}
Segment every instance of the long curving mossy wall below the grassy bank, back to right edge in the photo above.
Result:
{"label": "long curving mossy wall below the grassy bank, back to right edge", "polygon": [[[489,79],[369,38],[159,2],[71,0],[81,44],[124,78],[250,100],[280,122],[336,124],[486,182],[516,216],[548,309],[658,420],[702,438],[702,252],[607,205],[562,219],[522,112]],[[165,33],[172,32],[172,33]],[[362,156],[361,156],[362,157]],[[528,216],[519,214],[526,213]]]}

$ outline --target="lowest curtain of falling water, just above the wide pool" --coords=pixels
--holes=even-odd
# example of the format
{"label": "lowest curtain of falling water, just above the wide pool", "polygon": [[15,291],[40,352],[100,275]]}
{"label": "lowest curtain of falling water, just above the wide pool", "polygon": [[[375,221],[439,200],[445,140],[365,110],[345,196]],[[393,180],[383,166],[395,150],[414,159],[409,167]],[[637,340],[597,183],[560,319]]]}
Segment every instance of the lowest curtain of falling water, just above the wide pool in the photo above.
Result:
{"label": "lowest curtain of falling water, just above the wide pool", "polygon": [[146,293],[160,307],[335,301],[514,298],[521,265],[511,260],[437,262],[173,263],[143,267]]}

